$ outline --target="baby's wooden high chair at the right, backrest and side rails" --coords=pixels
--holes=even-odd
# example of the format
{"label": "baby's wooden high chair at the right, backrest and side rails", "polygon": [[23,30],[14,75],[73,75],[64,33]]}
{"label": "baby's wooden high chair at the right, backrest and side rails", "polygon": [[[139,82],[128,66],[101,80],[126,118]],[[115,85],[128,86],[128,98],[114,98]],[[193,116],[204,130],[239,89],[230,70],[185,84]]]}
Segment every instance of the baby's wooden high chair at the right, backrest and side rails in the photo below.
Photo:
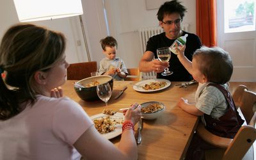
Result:
{"label": "baby's wooden high chair at the right, backrest and side rails", "polygon": [[[238,86],[234,92],[234,101],[244,115],[246,124],[237,132],[234,139],[216,136],[199,123],[197,134],[204,140],[218,148],[205,151],[205,159],[252,159],[253,142],[256,139],[255,117],[253,106],[256,103],[256,94],[248,91],[246,86]],[[250,148],[252,147],[252,148]],[[249,150],[249,152],[248,152]],[[245,156],[244,156],[245,155]]]}

